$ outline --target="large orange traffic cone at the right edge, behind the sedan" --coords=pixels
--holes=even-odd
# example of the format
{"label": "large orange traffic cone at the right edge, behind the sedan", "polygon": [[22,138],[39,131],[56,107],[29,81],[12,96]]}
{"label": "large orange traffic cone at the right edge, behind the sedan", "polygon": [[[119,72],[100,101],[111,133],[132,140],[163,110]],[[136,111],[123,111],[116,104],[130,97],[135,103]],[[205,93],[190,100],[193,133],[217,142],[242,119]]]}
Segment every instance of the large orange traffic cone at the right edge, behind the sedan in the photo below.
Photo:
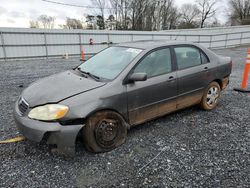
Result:
{"label": "large orange traffic cone at the right edge, behind the sedan", "polygon": [[250,92],[250,48],[247,50],[247,60],[244,68],[241,88],[234,88],[235,91]]}

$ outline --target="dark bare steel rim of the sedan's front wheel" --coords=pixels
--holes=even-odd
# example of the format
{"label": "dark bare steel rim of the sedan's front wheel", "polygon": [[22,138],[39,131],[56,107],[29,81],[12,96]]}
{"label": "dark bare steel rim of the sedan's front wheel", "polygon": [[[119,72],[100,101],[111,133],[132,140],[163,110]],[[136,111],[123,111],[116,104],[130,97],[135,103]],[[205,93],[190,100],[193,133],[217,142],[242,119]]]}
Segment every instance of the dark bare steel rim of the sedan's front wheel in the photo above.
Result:
{"label": "dark bare steel rim of the sedan's front wheel", "polygon": [[102,147],[110,147],[117,137],[118,122],[111,119],[102,120],[96,128],[96,141]]}

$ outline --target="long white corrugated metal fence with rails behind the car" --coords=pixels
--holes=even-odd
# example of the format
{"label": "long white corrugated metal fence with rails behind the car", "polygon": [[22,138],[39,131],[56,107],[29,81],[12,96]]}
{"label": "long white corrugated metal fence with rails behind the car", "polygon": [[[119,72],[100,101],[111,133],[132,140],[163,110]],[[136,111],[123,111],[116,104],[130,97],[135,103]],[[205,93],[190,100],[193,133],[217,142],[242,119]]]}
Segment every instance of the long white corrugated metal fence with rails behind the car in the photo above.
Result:
{"label": "long white corrugated metal fence with rails behind the car", "polygon": [[[93,45],[89,40],[93,39]],[[137,40],[181,40],[208,48],[250,44],[250,26],[217,29],[144,31],[92,31],[0,28],[0,60],[92,55],[111,44]]]}

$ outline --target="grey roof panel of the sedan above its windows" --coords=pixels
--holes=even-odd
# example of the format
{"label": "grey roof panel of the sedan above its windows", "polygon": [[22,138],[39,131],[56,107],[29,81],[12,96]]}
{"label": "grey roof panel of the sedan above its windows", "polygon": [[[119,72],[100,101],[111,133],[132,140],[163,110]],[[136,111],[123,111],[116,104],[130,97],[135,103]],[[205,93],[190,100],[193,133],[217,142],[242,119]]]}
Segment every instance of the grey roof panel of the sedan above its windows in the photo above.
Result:
{"label": "grey roof panel of the sedan above its windows", "polygon": [[176,40],[141,40],[141,41],[134,41],[134,42],[124,42],[116,46],[140,48],[140,49],[154,49],[154,48],[162,47],[162,46],[182,45],[182,44],[194,45],[194,43],[192,42],[176,41]]}

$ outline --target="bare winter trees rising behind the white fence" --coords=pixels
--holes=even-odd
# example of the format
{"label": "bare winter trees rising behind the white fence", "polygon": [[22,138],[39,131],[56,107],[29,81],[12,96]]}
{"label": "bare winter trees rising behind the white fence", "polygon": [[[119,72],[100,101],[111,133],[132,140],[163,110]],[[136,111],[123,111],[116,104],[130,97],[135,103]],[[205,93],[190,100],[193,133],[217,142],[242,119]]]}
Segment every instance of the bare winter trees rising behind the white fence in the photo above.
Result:
{"label": "bare winter trees rising behind the white fence", "polygon": [[[196,0],[177,7],[175,0],[91,0],[95,14],[85,21],[67,18],[64,29],[109,29],[159,31],[220,26],[217,19],[220,0]],[[250,24],[250,0],[227,0],[227,25]],[[41,15],[30,27],[53,28],[55,18]]]}

